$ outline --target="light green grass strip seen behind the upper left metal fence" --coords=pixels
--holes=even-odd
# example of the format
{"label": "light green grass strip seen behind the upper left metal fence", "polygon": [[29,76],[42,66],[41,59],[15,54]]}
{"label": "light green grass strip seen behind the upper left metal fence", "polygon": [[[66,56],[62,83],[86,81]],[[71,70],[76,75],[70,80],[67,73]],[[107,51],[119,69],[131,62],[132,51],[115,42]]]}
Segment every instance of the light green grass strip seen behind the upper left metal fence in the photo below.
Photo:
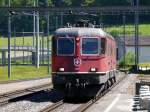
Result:
{"label": "light green grass strip seen behind the upper left metal fence", "polygon": [[[23,39],[24,39],[24,44],[23,44]],[[50,36],[51,39],[51,36]],[[42,41],[42,37],[40,37],[40,41]],[[11,45],[15,45],[15,38],[11,38]],[[2,38],[0,37],[0,47],[6,47],[8,46],[8,38]],[[25,38],[23,37],[16,37],[16,46],[33,46],[33,37],[31,36],[26,36]],[[44,46],[47,46],[47,38],[44,37]]]}

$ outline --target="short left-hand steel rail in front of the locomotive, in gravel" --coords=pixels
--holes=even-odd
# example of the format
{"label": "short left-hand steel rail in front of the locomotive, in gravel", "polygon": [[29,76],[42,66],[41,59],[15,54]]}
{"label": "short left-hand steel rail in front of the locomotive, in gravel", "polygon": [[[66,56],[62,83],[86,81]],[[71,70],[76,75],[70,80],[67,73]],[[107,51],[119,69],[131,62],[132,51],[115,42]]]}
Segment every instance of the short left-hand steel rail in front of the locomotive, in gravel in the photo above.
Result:
{"label": "short left-hand steel rail in front of the locomotive, in gravel", "polygon": [[63,104],[64,104],[64,101],[60,100],[59,102],[56,102],[52,105],[47,106],[46,108],[44,108],[40,112],[51,112],[51,111],[55,110],[56,108],[60,107]]}

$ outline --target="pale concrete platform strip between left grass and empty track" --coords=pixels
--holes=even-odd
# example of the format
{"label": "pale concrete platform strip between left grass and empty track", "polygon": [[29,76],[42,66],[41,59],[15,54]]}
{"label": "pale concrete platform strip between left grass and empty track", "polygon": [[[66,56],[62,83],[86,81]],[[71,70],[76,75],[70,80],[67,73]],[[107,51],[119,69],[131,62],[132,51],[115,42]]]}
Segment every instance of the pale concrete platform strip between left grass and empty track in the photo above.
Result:
{"label": "pale concrete platform strip between left grass and empty track", "polygon": [[50,83],[51,83],[51,78],[42,78],[36,80],[12,82],[8,84],[0,84],[0,95],[5,94],[7,92],[13,92],[16,90],[27,89],[30,87],[35,87],[35,86],[50,84]]}

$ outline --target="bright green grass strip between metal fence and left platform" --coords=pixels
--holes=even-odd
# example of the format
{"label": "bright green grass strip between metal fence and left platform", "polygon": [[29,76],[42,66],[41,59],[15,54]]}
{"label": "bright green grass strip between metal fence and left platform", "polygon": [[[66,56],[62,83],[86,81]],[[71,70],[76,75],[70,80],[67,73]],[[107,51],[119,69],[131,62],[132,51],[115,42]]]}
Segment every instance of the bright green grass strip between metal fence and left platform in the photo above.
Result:
{"label": "bright green grass strip between metal fence and left platform", "polygon": [[32,79],[47,77],[47,67],[41,66],[37,69],[34,66],[12,66],[11,78],[7,76],[7,66],[0,67],[0,82],[9,80]]}

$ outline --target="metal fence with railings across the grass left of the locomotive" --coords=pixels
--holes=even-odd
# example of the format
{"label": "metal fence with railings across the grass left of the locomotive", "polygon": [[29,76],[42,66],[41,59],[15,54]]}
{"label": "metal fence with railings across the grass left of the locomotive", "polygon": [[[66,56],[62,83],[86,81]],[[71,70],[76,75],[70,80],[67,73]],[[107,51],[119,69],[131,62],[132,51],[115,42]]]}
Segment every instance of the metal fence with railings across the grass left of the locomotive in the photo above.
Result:
{"label": "metal fence with railings across the grass left of the locomotive", "polygon": [[[11,38],[11,64],[13,65],[36,65],[36,45],[34,44],[36,39],[29,36],[29,33],[18,32],[19,36],[13,35]],[[21,36],[22,34],[22,36]],[[25,34],[27,34],[25,36]],[[47,65],[51,55],[51,41],[50,37],[45,37],[43,33],[40,33],[39,43],[39,64]],[[6,66],[8,64],[8,45],[7,38],[1,37],[4,42],[0,46],[0,66]],[[49,52],[49,53],[48,53]]]}

